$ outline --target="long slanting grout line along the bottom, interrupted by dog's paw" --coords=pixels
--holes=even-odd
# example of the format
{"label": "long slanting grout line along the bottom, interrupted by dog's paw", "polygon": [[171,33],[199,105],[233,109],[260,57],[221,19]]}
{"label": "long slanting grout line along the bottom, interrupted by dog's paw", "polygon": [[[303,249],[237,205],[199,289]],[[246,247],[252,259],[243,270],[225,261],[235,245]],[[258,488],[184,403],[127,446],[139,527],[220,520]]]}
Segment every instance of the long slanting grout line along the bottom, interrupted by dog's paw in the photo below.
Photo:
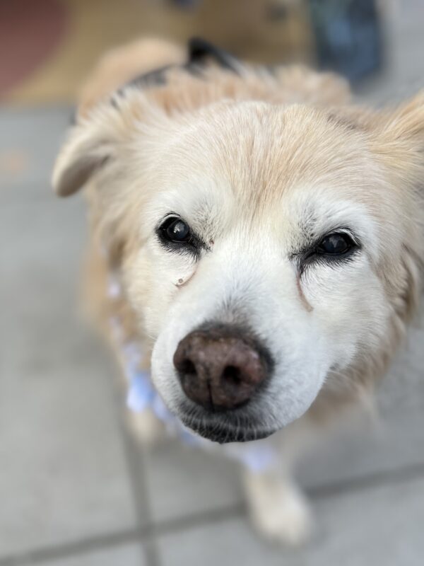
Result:
{"label": "long slanting grout line along the bottom, interrupted by dog's paw", "polygon": [[[424,462],[399,468],[398,470],[387,470],[382,473],[363,476],[353,480],[341,481],[329,485],[307,490],[307,494],[314,500],[324,497],[335,497],[337,495],[348,494],[360,490],[371,489],[372,487],[389,485],[390,483],[404,483],[406,481],[418,480],[424,477]],[[221,507],[212,511],[195,513],[189,516],[175,517],[167,519],[158,524],[146,524],[136,529],[126,529],[124,531],[107,533],[100,536],[83,539],[73,543],[64,543],[58,546],[49,546],[28,550],[25,553],[17,553],[0,558],[0,566],[28,566],[48,562],[57,558],[82,555],[84,553],[101,550],[104,548],[114,548],[128,543],[149,543],[152,539],[160,536],[172,535],[180,531],[187,531],[198,526],[204,526],[218,521],[228,521],[245,515],[245,506],[232,505]],[[151,564],[151,562],[149,562]]]}

